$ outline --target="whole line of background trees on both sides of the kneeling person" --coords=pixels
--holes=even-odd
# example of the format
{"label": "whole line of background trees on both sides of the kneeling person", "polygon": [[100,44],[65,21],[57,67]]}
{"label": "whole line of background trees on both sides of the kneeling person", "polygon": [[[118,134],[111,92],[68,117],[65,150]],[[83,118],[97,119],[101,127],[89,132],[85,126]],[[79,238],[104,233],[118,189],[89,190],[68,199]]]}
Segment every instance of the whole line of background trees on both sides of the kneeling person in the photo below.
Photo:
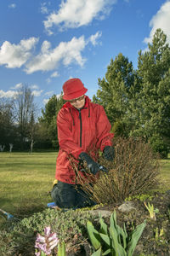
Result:
{"label": "whole line of background trees on both sides of the kneeling person", "polygon": [[[142,137],[154,151],[170,152],[170,47],[157,29],[148,49],[139,51],[138,67],[122,53],[111,59],[99,79],[93,102],[104,106],[115,136]],[[56,116],[64,104],[52,96],[36,119],[31,90],[22,86],[13,101],[0,102],[0,144],[15,148],[59,148]],[[22,146],[21,146],[22,145]]]}

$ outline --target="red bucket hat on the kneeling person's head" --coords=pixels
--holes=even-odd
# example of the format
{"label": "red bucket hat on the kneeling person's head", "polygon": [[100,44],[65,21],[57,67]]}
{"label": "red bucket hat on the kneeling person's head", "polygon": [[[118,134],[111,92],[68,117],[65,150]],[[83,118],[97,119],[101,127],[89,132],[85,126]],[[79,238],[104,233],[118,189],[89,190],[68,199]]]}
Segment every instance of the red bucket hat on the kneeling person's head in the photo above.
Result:
{"label": "red bucket hat on the kneeling person's head", "polygon": [[88,89],[84,87],[81,79],[69,79],[63,84],[63,99],[65,101],[71,101],[82,95],[84,95]]}

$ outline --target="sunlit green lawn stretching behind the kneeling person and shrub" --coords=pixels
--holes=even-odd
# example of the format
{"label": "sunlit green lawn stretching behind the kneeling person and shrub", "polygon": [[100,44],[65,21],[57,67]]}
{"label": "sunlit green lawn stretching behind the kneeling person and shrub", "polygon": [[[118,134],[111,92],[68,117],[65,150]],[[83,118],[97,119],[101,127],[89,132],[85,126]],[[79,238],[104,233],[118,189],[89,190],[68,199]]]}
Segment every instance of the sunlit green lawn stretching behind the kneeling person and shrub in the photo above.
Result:
{"label": "sunlit green lawn stretching behind the kneeling person and shrub", "polygon": [[[52,201],[56,157],[56,152],[0,153],[0,208],[18,218],[45,208]],[[161,160],[161,181],[162,189],[170,189],[170,158]]]}

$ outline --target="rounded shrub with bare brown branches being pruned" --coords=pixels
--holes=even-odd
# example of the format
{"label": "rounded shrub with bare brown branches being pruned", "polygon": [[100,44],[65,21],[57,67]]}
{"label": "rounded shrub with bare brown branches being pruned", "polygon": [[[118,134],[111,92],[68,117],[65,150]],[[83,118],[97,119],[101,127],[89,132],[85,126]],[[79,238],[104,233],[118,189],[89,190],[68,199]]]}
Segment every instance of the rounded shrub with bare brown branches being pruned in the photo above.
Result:
{"label": "rounded shrub with bare brown branches being pruned", "polygon": [[[100,154],[98,162],[109,172],[99,173],[99,177],[88,172],[88,179],[80,175],[77,165],[71,160],[82,189],[97,203],[124,201],[128,196],[139,195],[155,189],[160,171],[159,158],[152,152],[149,143],[142,139],[116,138],[114,140],[115,159],[104,160]],[[91,177],[91,183],[89,183]]]}

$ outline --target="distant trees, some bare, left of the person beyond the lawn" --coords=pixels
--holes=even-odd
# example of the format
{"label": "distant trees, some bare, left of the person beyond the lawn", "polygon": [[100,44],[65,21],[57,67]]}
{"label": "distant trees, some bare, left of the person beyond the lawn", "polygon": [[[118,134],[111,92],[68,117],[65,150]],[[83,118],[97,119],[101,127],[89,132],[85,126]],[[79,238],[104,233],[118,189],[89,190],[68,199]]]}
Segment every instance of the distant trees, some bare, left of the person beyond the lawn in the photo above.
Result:
{"label": "distant trees, some bare, left of the person beyond the lawn", "polygon": [[42,116],[37,117],[34,96],[26,84],[21,85],[12,100],[0,99],[1,148],[10,151],[10,144],[13,150],[31,152],[33,148],[59,148],[56,116],[63,103],[62,95],[52,96],[42,109]]}

